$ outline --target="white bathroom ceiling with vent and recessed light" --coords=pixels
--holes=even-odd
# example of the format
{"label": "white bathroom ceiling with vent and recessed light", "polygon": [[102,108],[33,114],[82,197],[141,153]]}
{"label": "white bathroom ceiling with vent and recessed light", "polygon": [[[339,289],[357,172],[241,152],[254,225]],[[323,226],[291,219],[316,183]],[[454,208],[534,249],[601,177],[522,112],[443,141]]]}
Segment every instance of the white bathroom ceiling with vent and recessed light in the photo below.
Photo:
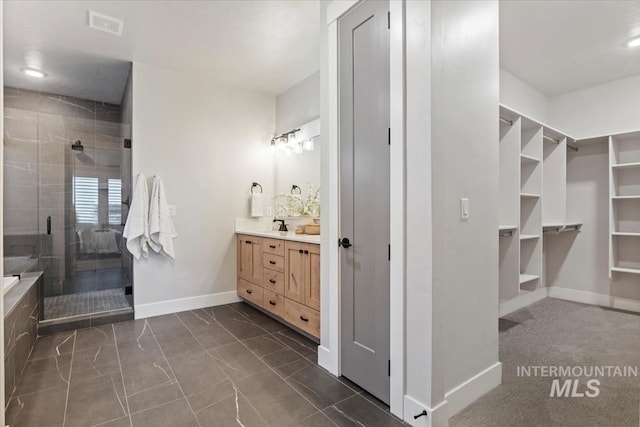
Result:
{"label": "white bathroom ceiling with vent and recessed light", "polygon": [[[89,28],[89,10],[122,36]],[[119,104],[136,61],[279,94],[319,69],[319,14],[318,0],[5,0],[5,84]]]}

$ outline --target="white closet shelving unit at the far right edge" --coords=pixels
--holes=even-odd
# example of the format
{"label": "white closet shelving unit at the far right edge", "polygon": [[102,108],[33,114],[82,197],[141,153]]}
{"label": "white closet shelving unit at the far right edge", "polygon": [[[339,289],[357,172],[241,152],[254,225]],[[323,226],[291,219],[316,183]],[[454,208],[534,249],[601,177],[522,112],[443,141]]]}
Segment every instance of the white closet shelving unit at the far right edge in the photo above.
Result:
{"label": "white closet shelving unit at the far right edge", "polygon": [[609,277],[640,274],[640,132],[609,137]]}

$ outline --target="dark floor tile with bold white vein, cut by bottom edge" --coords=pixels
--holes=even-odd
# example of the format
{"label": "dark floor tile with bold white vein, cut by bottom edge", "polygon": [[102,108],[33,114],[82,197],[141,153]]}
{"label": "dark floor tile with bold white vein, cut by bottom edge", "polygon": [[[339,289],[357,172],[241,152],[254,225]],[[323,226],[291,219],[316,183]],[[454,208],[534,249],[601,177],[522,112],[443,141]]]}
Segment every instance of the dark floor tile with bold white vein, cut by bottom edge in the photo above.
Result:
{"label": "dark floor tile with bold white vein, cut by bottom edge", "polygon": [[196,412],[201,426],[266,427],[267,424],[240,394],[229,396]]}

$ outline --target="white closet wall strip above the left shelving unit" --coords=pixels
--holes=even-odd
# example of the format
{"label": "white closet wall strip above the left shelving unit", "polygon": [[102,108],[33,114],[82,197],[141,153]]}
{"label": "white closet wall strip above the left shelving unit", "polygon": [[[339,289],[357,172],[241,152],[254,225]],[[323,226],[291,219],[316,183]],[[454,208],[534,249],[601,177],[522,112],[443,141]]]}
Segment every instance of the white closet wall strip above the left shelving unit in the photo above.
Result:
{"label": "white closet wall strip above the left shelving unit", "polygon": [[500,68],[500,103],[553,126],[553,117],[549,114],[549,98],[504,68]]}

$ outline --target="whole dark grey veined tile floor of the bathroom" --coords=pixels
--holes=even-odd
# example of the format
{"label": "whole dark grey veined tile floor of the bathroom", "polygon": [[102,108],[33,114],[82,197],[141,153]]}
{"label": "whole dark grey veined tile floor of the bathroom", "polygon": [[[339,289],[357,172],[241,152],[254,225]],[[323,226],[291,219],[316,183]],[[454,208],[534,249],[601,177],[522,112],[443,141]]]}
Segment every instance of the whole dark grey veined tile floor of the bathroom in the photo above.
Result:
{"label": "whole dark grey veined tile floor of the bathroom", "polygon": [[316,365],[316,345],[244,303],[38,338],[7,423],[401,426]]}

